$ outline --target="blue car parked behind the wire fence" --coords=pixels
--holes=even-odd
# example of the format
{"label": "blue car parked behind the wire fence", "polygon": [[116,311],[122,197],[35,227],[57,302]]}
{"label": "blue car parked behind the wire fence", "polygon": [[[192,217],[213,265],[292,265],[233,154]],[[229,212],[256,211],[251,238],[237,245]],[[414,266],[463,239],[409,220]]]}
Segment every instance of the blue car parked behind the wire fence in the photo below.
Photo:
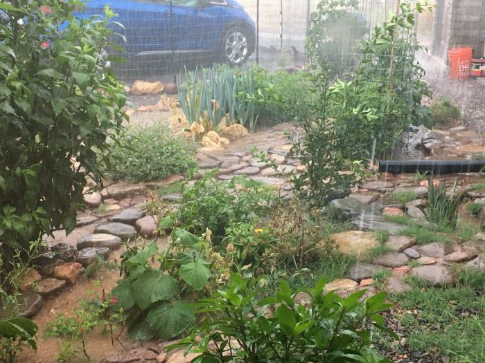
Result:
{"label": "blue car parked behind the wire fence", "polygon": [[238,66],[256,48],[254,21],[235,0],[88,0],[77,16],[103,15],[106,5],[130,58],[205,53]]}

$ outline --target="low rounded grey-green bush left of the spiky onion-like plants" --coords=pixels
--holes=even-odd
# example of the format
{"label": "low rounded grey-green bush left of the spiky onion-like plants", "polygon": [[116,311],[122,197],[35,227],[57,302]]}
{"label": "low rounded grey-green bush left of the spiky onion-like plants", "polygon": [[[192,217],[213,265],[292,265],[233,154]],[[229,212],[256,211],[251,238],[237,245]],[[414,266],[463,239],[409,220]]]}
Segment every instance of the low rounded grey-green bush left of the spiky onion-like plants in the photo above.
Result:
{"label": "low rounded grey-green bush left of the spiky onion-like plants", "polygon": [[133,127],[114,145],[105,171],[114,179],[159,180],[195,169],[194,156],[195,145],[174,136],[166,125]]}

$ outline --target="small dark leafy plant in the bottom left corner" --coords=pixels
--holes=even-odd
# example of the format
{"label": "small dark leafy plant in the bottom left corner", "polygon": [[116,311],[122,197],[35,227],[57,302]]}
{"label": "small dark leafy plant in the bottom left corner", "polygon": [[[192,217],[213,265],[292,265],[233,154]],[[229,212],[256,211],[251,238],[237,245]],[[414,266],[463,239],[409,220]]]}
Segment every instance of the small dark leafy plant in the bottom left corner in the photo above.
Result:
{"label": "small dark leafy plant in the bottom left corner", "polygon": [[17,362],[17,353],[30,346],[37,350],[35,334],[37,325],[23,317],[0,319],[0,360],[4,363]]}

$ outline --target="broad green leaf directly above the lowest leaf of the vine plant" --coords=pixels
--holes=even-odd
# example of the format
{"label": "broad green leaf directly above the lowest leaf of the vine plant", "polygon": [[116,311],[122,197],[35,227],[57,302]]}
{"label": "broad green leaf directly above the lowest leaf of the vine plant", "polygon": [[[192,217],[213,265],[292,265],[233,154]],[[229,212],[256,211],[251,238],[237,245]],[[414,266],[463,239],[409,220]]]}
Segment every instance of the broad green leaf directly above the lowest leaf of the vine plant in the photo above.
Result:
{"label": "broad green leaf directly above the lowest leaf of the vine plant", "polygon": [[177,280],[160,270],[146,270],[132,283],[136,304],[145,310],[151,304],[168,300],[178,290]]}

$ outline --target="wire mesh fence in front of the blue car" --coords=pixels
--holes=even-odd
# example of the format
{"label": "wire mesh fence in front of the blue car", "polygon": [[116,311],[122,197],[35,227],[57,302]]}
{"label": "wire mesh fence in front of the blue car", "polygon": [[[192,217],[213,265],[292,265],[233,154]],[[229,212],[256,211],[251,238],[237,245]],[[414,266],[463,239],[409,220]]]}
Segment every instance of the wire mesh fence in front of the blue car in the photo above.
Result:
{"label": "wire mesh fence in front of the blue car", "polygon": [[[239,65],[256,62],[269,71],[303,66],[310,15],[317,0],[126,0],[109,1],[118,14],[117,43],[125,48],[127,62],[114,64],[127,83],[136,79],[173,77],[184,68],[211,66],[215,62]],[[342,75],[355,63],[358,37],[371,34],[398,0],[362,0],[352,13],[356,21],[333,30],[342,44],[333,62]],[[100,13],[101,3],[88,1],[86,15]],[[353,27],[358,27],[356,28]],[[335,43],[335,42],[334,42]],[[347,43],[347,44],[345,44]]]}

